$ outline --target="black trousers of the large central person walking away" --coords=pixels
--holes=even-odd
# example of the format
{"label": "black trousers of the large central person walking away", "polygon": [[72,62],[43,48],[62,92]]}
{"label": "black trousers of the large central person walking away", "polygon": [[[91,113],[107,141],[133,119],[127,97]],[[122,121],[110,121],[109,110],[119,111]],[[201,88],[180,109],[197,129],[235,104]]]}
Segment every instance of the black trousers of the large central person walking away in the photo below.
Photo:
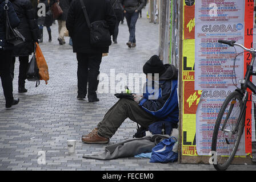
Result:
{"label": "black trousers of the large central person walking away", "polygon": [[88,95],[96,95],[98,88],[99,65],[101,64],[102,53],[88,54],[77,52],[77,85],[78,95],[86,96],[87,82]]}

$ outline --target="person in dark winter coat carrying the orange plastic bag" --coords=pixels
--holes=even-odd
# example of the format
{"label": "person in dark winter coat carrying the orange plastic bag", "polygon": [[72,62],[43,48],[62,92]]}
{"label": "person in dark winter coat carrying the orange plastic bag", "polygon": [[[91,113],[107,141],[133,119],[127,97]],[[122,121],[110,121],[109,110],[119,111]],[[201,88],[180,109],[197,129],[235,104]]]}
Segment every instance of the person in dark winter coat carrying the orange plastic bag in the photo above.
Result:
{"label": "person in dark winter coat carrying the orange plastic bag", "polygon": [[19,32],[25,37],[25,42],[14,47],[13,63],[11,64],[11,74],[14,77],[15,57],[19,57],[19,80],[18,92],[27,92],[25,80],[27,67],[29,66],[29,55],[34,52],[34,44],[38,42],[38,26],[35,20],[34,8],[30,0],[11,0],[13,7],[21,20],[17,27]]}

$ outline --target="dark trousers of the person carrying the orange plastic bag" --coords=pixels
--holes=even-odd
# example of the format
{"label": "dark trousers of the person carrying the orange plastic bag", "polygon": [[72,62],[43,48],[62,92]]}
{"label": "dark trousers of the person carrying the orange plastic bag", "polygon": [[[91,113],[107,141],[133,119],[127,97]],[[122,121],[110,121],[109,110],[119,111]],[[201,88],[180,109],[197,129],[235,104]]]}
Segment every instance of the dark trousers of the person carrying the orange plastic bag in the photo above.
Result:
{"label": "dark trousers of the person carrying the orange plastic bag", "polygon": [[[11,63],[11,76],[14,78],[15,57]],[[19,56],[19,88],[25,88],[25,80],[27,78],[27,68],[29,67],[29,56]]]}

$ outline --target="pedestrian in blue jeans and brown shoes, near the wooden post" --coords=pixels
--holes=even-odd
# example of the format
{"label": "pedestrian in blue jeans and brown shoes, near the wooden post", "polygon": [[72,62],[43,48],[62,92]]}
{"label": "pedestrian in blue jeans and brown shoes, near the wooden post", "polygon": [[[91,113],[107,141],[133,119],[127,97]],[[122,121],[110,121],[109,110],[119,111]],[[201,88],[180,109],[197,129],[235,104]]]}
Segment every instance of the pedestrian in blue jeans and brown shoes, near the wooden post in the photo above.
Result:
{"label": "pedestrian in blue jeans and brown shoes, near the wooden post", "polygon": [[126,45],[131,48],[136,46],[135,38],[135,26],[137,19],[139,17],[139,11],[143,8],[145,0],[120,0],[122,5],[123,13],[125,13],[125,18],[127,26],[129,28],[129,41]]}

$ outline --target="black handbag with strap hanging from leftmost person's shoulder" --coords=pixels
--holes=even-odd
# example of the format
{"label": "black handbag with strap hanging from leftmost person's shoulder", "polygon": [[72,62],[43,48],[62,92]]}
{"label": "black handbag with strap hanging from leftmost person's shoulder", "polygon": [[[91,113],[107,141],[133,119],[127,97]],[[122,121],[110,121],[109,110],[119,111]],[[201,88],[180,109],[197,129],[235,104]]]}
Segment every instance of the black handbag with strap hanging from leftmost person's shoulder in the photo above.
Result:
{"label": "black handbag with strap hanging from leftmost person's shoulder", "polygon": [[9,44],[13,44],[14,46],[25,42],[25,38],[21,35],[17,28],[11,28],[11,24],[8,16],[8,0],[5,0],[5,6],[3,6],[5,10],[5,38],[6,42]]}

